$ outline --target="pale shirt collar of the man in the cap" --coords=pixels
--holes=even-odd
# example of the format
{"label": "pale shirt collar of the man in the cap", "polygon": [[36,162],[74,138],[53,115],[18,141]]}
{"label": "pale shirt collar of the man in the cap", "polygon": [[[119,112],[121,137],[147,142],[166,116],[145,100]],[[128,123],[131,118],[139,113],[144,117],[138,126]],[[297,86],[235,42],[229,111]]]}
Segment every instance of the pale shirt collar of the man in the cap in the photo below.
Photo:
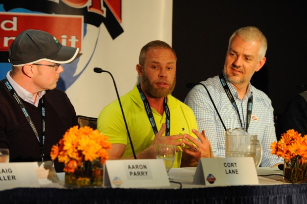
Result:
{"label": "pale shirt collar of the man in the cap", "polygon": [[17,95],[22,99],[24,100],[25,102],[29,102],[33,105],[35,105],[36,107],[38,107],[38,104],[39,104],[39,101],[40,99],[46,94],[46,91],[40,91],[38,94],[37,94],[37,97],[36,97],[36,101],[34,102],[33,101],[33,95],[28,92],[27,90],[25,90],[24,88],[22,88],[21,86],[19,86],[13,79],[12,77],[10,76],[10,72],[7,72],[6,74],[6,78],[7,78],[7,81],[11,84],[11,86],[14,88],[15,92],[17,93]]}

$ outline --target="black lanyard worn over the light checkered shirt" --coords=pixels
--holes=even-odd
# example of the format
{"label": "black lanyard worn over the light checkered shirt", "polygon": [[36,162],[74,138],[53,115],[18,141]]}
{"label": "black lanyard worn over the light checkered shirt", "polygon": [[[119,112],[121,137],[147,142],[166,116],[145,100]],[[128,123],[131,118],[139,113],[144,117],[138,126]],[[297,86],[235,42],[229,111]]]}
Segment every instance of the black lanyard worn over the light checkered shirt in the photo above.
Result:
{"label": "black lanyard worn over the light checkered shirt", "polygon": [[[243,124],[242,124],[242,120],[241,120],[241,117],[240,117],[240,113],[239,113],[239,109],[238,109],[238,106],[237,106],[237,103],[235,102],[231,92],[230,92],[230,89],[226,83],[226,80],[224,78],[224,75],[223,73],[219,75],[219,79],[221,81],[221,84],[226,92],[226,95],[229,99],[229,101],[232,103],[232,105],[235,107],[237,113],[238,113],[238,116],[239,116],[239,119],[240,119],[240,123],[241,123],[241,128],[244,130],[244,127],[243,127]],[[251,116],[252,116],[252,109],[253,109],[253,95],[249,98],[248,102],[247,102],[247,117],[246,117],[246,132],[250,126],[250,121],[251,121]]]}

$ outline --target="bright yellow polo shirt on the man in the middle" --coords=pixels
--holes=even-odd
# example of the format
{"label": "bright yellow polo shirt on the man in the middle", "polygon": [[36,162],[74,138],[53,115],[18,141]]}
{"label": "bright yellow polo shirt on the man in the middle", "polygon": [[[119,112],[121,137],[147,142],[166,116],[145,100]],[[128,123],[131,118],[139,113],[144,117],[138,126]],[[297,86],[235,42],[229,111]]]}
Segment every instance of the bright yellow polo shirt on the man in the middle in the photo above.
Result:
{"label": "bright yellow polo shirt on the man in the middle", "polygon": [[[140,153],[151,146],[154,139],[154,132],[137,86],[122,96],[120,101],[123,106],[135,153]],[[167,96],[167,105],[170,111],[170,135],[183,135],[187,133],[197,138],[192,133],[192,129],[197,130],[197,122],[192,109],[171,95]],[[157,130],[159,131],[162,123],[165,123],[165,112],[163,115],[160,115],[153,108],[152,111]],[[97,129],[109,137],[108,141],[111,144],[127,145],[123,157],[133,155],[118,100],[111,102],[102,109],[98,116]],[[163,136],[165,136],[165,133]],[[180,152],[176,153],[173,167],[180,167],[181,156],[182,150],[180,149]]]}

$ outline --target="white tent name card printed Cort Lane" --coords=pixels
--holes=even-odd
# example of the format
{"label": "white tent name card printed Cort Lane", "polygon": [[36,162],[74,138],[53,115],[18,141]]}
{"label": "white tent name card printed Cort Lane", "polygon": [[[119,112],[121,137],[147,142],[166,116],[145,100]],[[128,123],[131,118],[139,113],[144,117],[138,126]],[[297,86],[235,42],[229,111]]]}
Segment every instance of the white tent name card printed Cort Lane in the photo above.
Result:
{"label": "white tent name card printed Cort Lane", "polygon": [[194,184],[207,186],[259,184],[253,157],[201,158]]}

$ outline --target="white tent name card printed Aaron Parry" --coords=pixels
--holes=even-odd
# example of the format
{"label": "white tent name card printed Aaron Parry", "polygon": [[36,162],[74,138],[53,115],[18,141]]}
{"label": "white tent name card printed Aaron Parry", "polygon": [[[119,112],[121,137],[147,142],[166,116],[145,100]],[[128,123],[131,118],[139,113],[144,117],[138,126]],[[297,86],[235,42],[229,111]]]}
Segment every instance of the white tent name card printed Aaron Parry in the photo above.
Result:
{"label": "white tent name card printed Aaron Parry", "polygon": [[103,186],[144,188],[170,186],[163,159],[107,160]]}

